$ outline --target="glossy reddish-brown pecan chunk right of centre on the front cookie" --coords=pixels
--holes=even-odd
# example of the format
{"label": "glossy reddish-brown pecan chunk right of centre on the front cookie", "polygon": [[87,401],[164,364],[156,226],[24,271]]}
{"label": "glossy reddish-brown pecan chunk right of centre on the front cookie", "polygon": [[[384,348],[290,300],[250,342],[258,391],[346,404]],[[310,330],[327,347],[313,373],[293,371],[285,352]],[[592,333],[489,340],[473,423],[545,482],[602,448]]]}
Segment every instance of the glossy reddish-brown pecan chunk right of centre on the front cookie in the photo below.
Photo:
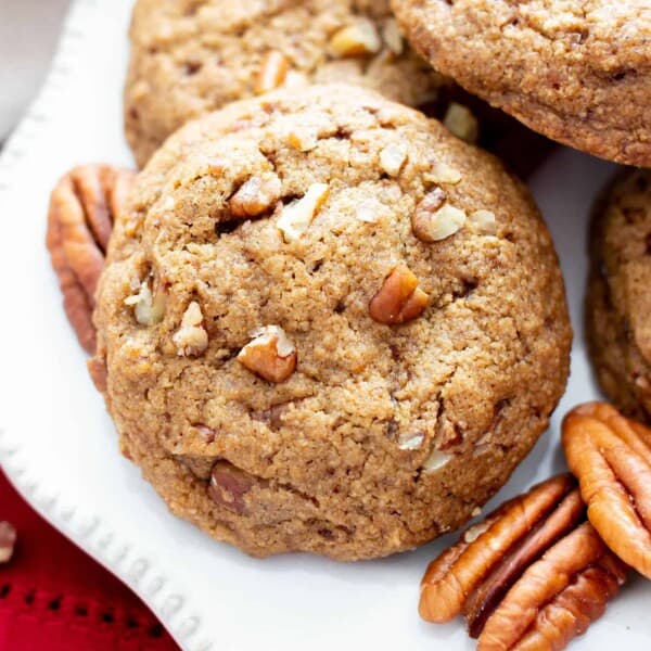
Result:
{"label": "glossy reddish-brown pecan chunk right of centre on the front cookie", "polygon": [[430,297],[418,286],[418,278],[405,265],[398,265],[369,303],[373,321],[399,326],[419,317]]}

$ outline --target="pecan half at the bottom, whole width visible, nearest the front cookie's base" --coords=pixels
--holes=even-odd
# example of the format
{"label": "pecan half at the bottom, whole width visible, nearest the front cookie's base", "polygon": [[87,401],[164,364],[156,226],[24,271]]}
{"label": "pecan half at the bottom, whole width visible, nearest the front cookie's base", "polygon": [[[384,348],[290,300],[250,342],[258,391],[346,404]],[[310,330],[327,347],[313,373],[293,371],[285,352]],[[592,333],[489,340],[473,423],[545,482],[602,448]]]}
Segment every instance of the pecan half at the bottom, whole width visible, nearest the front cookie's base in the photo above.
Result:
{"label": "pecan half at the bottom, whole width visible, nearest the front cookie's base", "polygon": [[484,651],[562,648],[626,577],[585,511],[567,474],[506,502],[427,567],[421,616],[463,614]]}

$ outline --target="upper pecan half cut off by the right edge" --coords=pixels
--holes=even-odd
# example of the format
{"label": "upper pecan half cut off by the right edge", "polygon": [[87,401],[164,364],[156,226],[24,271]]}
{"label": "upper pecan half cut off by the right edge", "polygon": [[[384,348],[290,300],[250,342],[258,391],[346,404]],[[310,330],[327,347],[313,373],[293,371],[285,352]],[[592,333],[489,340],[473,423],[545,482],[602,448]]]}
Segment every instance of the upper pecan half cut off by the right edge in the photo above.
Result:
{"label": "upper pecan half cut off by the right edge", "polygon": [[623,561],[651,578],[651,430],[611,405],[589,403],[565,417],[563,447],[589,521]]}

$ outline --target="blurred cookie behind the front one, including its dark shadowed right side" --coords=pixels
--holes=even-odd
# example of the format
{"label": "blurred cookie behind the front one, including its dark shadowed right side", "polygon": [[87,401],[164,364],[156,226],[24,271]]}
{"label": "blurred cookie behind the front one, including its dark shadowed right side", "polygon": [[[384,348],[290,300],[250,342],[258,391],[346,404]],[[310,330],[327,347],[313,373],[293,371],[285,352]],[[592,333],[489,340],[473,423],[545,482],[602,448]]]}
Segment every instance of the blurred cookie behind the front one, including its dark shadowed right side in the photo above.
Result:
{"label": "blurred cookie behind the front one, including its dark shadowed right side", "polygon": [[550,142],[435,73],[400,35],[388,0],[139,0],[125,126],[140,165],[189,119],[278,86],[358,84],[419,107],[521,176]]}

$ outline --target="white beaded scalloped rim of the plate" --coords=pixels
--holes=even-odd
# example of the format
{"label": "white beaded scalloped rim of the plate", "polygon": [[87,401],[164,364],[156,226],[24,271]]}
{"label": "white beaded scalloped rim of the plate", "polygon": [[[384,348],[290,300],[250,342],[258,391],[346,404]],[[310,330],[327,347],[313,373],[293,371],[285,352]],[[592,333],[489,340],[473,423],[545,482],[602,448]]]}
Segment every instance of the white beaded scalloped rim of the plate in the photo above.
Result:
{"label": "white beaded scalloped rim of the plate", "polygon": [[[69,62],[84,52],[88,38],[84,26],[100,4],[101,0],[74,0],[68,9],[46,81],[0,154],[0,205],[12,186],[15,164],[47,128],[47,107],[63,92]],[[165,569],[140,554],[136,542],[112,531],[98,513],[65,502],[60,495],[43,489],[29,473],[28,460],[22,457],[20,446],[8,442],[7,430],[1,423],[0,464],[23,497],[66,537],[135,590],[183,649],[214,649],[214,640],[204,636],[201,618],[186,605],[187,599]]]}

